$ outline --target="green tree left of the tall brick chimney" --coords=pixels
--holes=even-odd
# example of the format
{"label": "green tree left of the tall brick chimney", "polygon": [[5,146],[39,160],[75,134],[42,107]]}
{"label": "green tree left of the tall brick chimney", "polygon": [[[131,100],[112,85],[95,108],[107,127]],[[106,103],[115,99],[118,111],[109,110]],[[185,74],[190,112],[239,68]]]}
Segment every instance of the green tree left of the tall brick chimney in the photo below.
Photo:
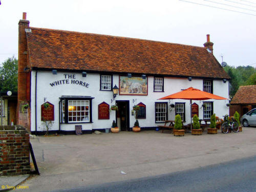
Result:
{"label": "green tree left of the tall brick chimney", "polygon": [[18,60],[8,58],[0,66],[0,91],[17,91],[18,86]]}

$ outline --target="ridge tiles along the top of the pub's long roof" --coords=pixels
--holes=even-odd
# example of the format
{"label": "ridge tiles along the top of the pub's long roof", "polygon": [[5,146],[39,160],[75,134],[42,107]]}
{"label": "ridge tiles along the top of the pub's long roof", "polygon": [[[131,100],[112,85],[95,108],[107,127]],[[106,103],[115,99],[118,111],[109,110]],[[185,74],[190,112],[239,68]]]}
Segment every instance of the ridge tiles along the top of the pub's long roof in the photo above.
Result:
{"label": "ridge tiles along the top of the pub's long roof", "polygon": [[181,44],[181,43],[172,43],[172,42],[164,42],[164,41],[156,41],[156,40],[150,40],[150,39],[139,39],[139,38],[132,38],[132,37],[122,37],[122,36],[104,35],[104,34],[86,33],[86,32],[77,32],[77,31],[59,30],[59,29],[36,28],[36,27],[30,27],[30,28],[32,30],[33,29],[38,29],[38,30],[48,30],[48,31],[59,31],[59,32],[65,32],[65,33],[88,34],[88,35],[95,35],[95,36],[105,36],[105,37],[112,37],[112,38],[120,38],[120,39],[133,39],[133,40],[150,41],[150,42],[156,42],[156,43],[166,43],[166,44],[174,44],[174,45],[182,45],[182,46],[191,46],[191,47],[205,49],[205,47],[203,47],[203,46],[188,45],[188,44]]}

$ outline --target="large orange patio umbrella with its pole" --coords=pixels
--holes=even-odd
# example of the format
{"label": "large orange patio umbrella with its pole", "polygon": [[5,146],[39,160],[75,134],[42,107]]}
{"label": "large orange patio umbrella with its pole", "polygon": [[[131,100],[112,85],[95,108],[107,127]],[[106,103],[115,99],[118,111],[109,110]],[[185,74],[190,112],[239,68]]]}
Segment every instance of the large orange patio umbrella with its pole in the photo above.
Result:
{"label": "large orange patio umbrella with its pole", "polygon": [[173,99],[182,99],[182,100],[190,100],[190,129],[192,129],[192,120],[191,120],[191,104],[192,100],[227,100],[227,98],[220,97],[216,94],[208,93],[205,91],[201,91],[200,89],[196,89],[193,87],[189,87],[180,92],[170,94],[166,97],[160,98],[159,100],[173,100]]}

